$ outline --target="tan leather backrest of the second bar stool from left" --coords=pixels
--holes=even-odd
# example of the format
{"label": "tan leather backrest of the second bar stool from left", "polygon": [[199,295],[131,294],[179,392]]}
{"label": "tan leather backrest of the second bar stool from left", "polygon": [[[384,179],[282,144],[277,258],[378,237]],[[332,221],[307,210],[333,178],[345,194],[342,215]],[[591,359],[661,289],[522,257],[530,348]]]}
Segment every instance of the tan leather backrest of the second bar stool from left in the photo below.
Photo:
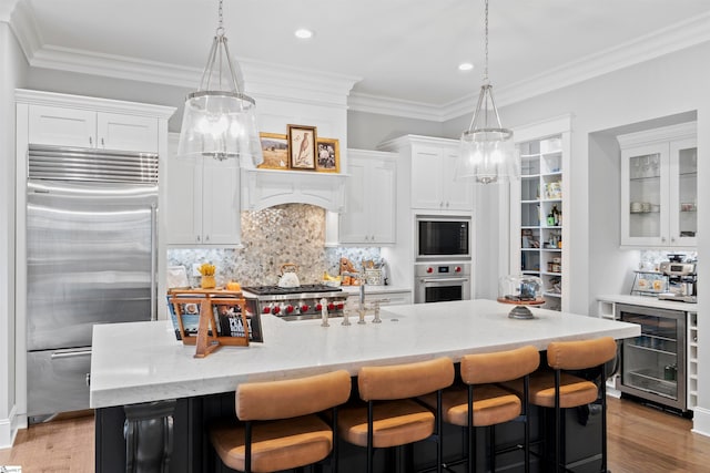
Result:
{"label": "tan leather backrest of the second bar stool from left", "polygon": [[450,358],[389,367],[363,367],[357,387],[363,401],[416,398],[454,383]]}

